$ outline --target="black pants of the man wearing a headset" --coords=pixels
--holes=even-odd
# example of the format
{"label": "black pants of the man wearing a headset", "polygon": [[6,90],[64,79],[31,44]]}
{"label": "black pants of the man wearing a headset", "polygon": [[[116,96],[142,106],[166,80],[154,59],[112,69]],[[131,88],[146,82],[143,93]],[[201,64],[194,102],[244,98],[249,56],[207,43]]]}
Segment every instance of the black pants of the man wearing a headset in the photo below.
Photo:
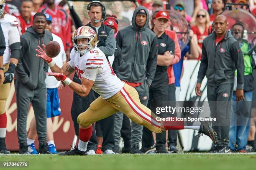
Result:
{"label": "black pants of the man wearing a headset", "polygon": [[[80,83],[81,81],[77,78],[77,74],[74,75],[74,82]],[[90,107],[90,104],[99,97],[99,94],[93,90],[89,92],[86,97],[79,96],[76,92],[73,94],[73,102],[71,107],[71,115],[74,123],[75,134],[79,135],[79,124],[77,123],[77,117],[80,113],[84,112]],[[114,115],[111,115],[105,119],[99,120],[100,128],[102,130],[102,150],[113,149],[114,147]],[[87,150],[97,150],[97,139],[95,134],[95,128],[93,126],[92,137],[87,145]]]}

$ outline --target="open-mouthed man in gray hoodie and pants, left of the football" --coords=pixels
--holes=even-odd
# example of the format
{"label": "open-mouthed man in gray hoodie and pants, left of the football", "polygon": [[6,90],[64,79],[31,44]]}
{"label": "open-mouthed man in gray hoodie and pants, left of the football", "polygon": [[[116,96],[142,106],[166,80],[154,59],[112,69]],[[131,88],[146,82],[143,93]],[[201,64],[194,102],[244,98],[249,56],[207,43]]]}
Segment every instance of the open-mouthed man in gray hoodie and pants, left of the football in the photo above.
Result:
{"label": "open-mouthed man in gray hoodie and pants, left of the football", "polygon": [[[33,26],[20,37],[20,60],[15,71],[15,91],[17,100],[17,132],[20,143],[19,153],[27,154],[27,115],[30,103],[36,117],[39,140],[38,153],[48,153],[46,143],[46,72],[48,64],[35,57],[38,45],[52,41],[51,32],[45,30],[46,16],[36,13]],[[36,66],[36,67],[35,67]]]}

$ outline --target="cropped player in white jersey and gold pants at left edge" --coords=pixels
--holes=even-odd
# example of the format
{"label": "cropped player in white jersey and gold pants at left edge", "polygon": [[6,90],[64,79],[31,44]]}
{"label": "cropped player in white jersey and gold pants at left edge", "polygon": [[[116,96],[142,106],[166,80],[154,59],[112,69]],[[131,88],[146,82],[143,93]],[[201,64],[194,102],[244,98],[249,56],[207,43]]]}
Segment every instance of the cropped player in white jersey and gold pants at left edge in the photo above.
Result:
{"label": "cropped player in white jersey and gold pants at left edge", "polygon": [[8,150],[6,150],[5,146],[7,125],[5,102],[10,92],[10,83],[13,81],[15,67],[18,64],[20,53],[20,34],[17,29],[17,18],[15,18],[13,15],[7,14],[4,9],[5,0],[0,0],[0,24],[4,34],[4,36],[1,36],[1,38],[5,38],[6,47],[3,54],[5,80],[3,84],[0,84],[0,151],[1,153],[10,153]]}

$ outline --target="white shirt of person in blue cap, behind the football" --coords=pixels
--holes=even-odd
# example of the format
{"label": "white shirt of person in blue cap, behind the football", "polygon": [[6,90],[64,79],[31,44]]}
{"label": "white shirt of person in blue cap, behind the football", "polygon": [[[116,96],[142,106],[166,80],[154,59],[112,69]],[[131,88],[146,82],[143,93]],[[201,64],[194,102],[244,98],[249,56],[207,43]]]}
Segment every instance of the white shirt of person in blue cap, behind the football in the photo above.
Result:
{"label": "white shirt of person in blue cap, behind the football", "polygon": [[[61,40],[61,38],[53,33],[51,33],[52,35],[52,40],[53,41],[57,41],[61,47],[61,50],[59,52],[59,54],[52,58],[55,62],[56,65],[58,65],[60,68],[62,67],[63,65],[63,62],[65,62],[67,60],[67,56],[66,56],[66,53],[65,53],[65,50],[64,50],[64,45],[63,45],[63,42]],[[51,72],[51,69],[49,67],[48,69],[48,72]],[[46,79],[45,79],[45,83],[46,83],[46,87],[47,88],[56,88],[56,87],[59,87],[60,85],[60,81],[56,80],[55,77],[52,77],[52,76],[46,76]]]}

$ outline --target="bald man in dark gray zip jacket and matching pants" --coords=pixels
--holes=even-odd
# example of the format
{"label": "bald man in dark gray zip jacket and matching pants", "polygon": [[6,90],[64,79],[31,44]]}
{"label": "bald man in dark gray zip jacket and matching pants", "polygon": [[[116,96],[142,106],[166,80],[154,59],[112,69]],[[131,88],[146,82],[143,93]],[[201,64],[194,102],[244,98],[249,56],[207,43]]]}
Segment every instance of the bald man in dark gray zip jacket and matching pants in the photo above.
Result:
{"label": "bald man in dark gray zip jacket and matching pants", "polygon": [[228,133],[235,71],[237,75],[236,100],[244,100],[243,54],[238,42],[227,31],[227,28],[227,18],[224,15],[218,15],[214,20],[215,31],[202,43],[202,59],[195,87],[196,94],[201,96],[201,83],[204,77],[207,77],[210,116],[217,119],[212,124],[218,134],[217,145],[212,148],[212,153],[230,153]]}

